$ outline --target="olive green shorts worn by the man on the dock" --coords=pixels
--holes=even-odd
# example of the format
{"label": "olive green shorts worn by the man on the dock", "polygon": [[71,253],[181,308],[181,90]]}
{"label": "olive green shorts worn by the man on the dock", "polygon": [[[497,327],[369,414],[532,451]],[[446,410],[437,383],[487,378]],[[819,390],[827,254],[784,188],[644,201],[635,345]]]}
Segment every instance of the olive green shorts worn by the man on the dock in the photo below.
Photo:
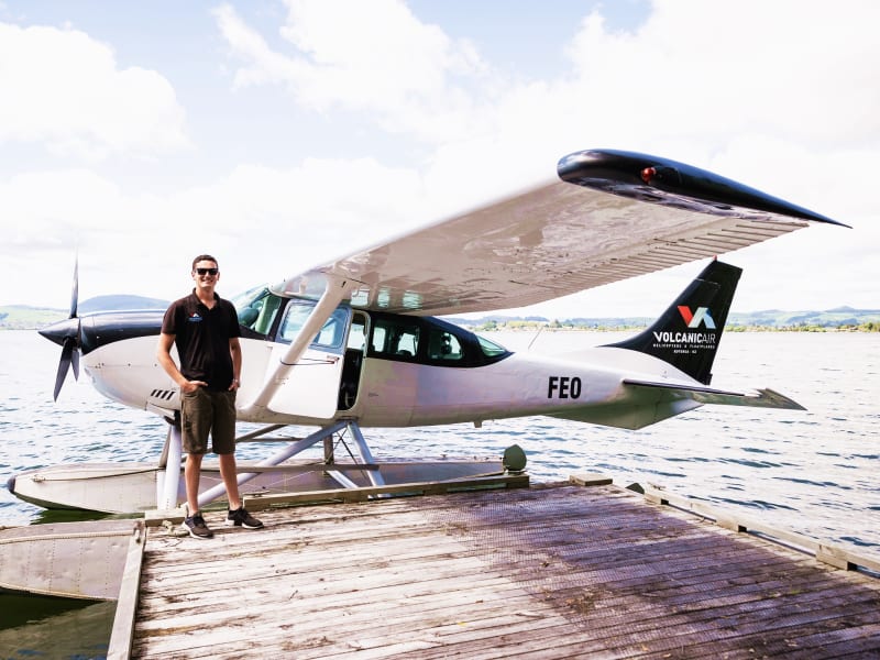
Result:
{"label": "olive green shorts worn by the man on the dock", "polygon": [[205,387],[180,393],[180,431],[187,453],[208,453],[208,433],[213,453],[234,453],[235,393]]}

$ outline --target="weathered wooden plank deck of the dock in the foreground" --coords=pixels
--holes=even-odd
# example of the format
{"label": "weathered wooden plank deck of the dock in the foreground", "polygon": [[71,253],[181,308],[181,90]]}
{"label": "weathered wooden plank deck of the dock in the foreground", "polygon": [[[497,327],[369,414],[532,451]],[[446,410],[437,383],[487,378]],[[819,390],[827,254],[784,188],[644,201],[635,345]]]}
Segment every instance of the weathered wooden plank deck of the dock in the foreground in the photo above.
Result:
{"label": "weathered wooden plank deck of the dock in the foreground", "polygon": [[133,657],[880,657],[877,579],[615,486],[213,518],[150,530]]}

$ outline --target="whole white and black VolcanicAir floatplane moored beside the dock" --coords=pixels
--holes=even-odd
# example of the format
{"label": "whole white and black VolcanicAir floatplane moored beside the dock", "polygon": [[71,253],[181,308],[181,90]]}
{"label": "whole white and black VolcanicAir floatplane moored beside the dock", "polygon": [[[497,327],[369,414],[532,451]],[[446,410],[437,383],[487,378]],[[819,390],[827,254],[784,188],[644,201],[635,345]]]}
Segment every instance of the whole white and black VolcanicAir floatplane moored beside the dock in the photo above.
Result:
{"label": "whole white and black VolcanicAir floatplane moored beside the dock", "polygon": [[[801,408],[772,389],[712,384],[740,275],[717,255],[811,222],[840,222],[644,154],[581,151],[559,161],[557,174],[234,298],[243,334],[239,421],[258,425],[238,440],[278,440],[292,425],[317,428],[280,438],[284,448],[264,461],[240,462],[245,496],[319,487],[327,479],[360,487],[406,483],[425,470],[433,479],[454,473],[450,462],[377,462],[362,432],[371,427],[480,427],[546,415],[639,429],[706,404]],[[651,327],[576,359],[515,353],[440,318],[525,307],[707,257]],[[69,318],[40,331],[62,346],[55,397],[81,364],[102,395],[168,421],[163,454],[155,464],[38,469],[15,475],[9,491],[47,508],[175,509],[185,501],[180,403],[155,358],[162,311],[78,316],[77,290],[75,277]],[[351,461],[337,460],[340,439]],[[320,443],[317,464],[292,462]],[[501,469],[521,470],[520,454],[506,454]],[[207,505],[224,492],[207,464],[204,474]]]}

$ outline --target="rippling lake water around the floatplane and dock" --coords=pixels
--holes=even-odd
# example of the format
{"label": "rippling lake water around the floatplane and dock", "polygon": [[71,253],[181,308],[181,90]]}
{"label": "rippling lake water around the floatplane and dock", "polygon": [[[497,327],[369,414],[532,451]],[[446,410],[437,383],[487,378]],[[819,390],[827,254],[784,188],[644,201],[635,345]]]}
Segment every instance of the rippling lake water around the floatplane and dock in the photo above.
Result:
{"label": "rippling lake water around the floatplane and dock", "polygon": [[[618,333],[491,333],[512,350],[561,353]],[[0,332],[0,526],[72,519],[14,498],[16,472],[66,462],[148,461],[165,424],[112,404],[68,376],[52,402],[61,349],[30,331]],[[880,333],[726,333],[713,385],[771,387],[807,408],[706,406],[640,431],[549,418],[421,429],[365,429],[382,457],[501,455],[517,443],[534,481],[603,472],[652,483],[833,543],[880,556]],[[261,455],[260,447],[240,450]],[[271,450],[270,450],[271,451]],[[81,519],[76,517],[75,519]],[[0,596],[0,658],[102,657],[112,604]]]}

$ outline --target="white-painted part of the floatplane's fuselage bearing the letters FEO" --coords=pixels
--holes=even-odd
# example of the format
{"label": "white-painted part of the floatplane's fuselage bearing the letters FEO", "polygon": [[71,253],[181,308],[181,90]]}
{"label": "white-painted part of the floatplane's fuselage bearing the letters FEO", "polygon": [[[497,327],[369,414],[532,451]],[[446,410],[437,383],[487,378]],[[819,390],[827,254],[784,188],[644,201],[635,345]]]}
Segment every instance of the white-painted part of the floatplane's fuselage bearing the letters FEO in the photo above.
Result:
{"label": "white-painted part of the floatplane's fuselage bearing the letters FEO", "polygon": [[[179,408],[179,399],[175,384],[155,359],[156,342],[157,334],[113,341],[84,355],[81,364],[105,396],[134,408],[170,414]],[[364,356],[354,350],[360,372],[353,403],[345,409],[338,405],[328,408],[328,402],[339,400],[342,355],[311,345],[268,405],[252,409],[249,400],[272,374],[277,352],[285,344],[245,338],[241,345],[239,419],[249,422],[326,426],[345,418],[362,427],[408,427],[576,413],[583,421],[635,428],[644,426],[638,422],[634,427],[636,411],[652,407],[657,397],[625,387],[625,376],[700,385],[662,360],[609,346],[565,359],[507,353],[480,366]],[[348,351],[351,354],[353,350]],[[321,409],[328,414],[309,414]],[[644,417],[644,410],[640,415]]]}

